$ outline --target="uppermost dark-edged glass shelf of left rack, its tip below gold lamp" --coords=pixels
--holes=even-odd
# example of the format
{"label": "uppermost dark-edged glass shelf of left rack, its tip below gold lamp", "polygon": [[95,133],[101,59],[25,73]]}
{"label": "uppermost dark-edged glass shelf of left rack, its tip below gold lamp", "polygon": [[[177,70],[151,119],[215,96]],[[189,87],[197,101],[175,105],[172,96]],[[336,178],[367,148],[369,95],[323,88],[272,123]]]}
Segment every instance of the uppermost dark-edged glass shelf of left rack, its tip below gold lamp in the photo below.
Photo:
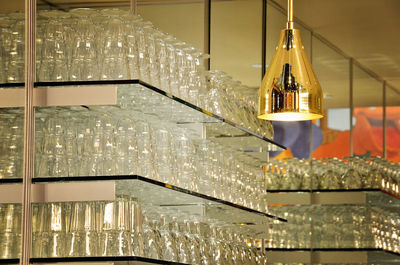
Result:
{"label": "uppermost dark-edged glass shelf of left rack, its tip below gold lamp", "polygon": [[[36,88],[115,86],[118,90],[116,108],[118,112],[129,105],[129,109],[137,109],[149,116],[166,120],[181,126],[187,124],[204,124],[207,138],[223,141],[228,146],[244,150],[247,154],[267,151],[279,151],[285,146],[264,136],[251,132],[229,120],[195,106],[185,100],[171,95],[140,80],[104,80],[81,82],[37,82]],[[134,102],[124,102],[124,97],[134,97]],[[201,135],[199,135],[201,137]],[[241,139],[238,141],[238,139]],[[245,144],[245,146],[243,146]],[[246,146],[247,145],[247,146]],[[266,156],[263,158],[266,161]]]}

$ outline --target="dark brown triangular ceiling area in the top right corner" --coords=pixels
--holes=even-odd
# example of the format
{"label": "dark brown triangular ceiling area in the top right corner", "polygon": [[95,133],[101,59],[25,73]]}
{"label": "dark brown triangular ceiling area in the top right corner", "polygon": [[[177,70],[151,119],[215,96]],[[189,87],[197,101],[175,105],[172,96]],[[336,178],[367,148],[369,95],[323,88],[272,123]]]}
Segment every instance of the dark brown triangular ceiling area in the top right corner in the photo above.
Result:
{"label": "dark brown triangular ceiling area in the top right corner", "polygon": [[[285,0],[276,0],[282,6]],[[295,0],[312,30],[400,89],[399,0]]]}

